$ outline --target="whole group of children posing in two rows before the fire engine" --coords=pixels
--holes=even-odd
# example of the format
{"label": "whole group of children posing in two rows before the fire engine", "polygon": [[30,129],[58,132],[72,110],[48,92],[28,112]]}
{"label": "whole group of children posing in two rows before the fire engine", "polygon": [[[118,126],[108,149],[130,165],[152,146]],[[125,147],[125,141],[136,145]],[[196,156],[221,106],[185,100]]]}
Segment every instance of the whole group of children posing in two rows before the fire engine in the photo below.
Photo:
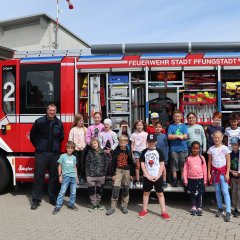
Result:
{"label": "whole group of children posing in two rows before the fire engine", "polygon": [[[129,187],[132,176],[135,175],[135,186],[143,188],[144,192],[143,209],[139,213],[139,218],[147,214],[149,195],[154,188],[162,211],[161,217],[169,220],[163,189],[167,187],[167,169],[170,169],[172,186],[178,186],[180,172],[181,185],[191,194],[192,215],[203,214],[204,186],[214,183],[218,204],[216,216],[223,215],[223,194],[226,221],[231,220],[229,195],[231,179],[233,215],[239,216],[239,119],[238,114],[231,114],[230,126],[224,131],[221,118],[221,113],[214,113],[212,125],[204,131],[201,125],[196,124],[194,113],[188,114],[186,125],[182,123],[182,113],[176,110],[173,113],[173,123],[165,130],[159,121],[158,113],[152,113],[152,124],[149,126],[146,127],[142,120],[138,120],[134,123],[134,132],[131,133],[128,123],[122,121],[117,135],[111,130],[111,119],[105,119],[103,124],[101,123],[101,113],[94,114],[94,124],[88,128],[84,127],[83,116],[78,114],[69,133],[67,153],[61,155],[58,161],[59,181],[62,187],[53,214],[59,212],[68,185],[70,185],[69,208],[77,210],[74,202],[78,180],[80,183],[87,181],[91,201],[89,211],[103,209],[100,202],[107,175],[112,176],[114,186],[111,207],[106,215],[115,212],[121,188],[121,211],[127,214]],[[207,149],[208,163],[203,156]],[[135,170],[135,174],[132,170]],[[142,182],[140,170],[143,173]]]}

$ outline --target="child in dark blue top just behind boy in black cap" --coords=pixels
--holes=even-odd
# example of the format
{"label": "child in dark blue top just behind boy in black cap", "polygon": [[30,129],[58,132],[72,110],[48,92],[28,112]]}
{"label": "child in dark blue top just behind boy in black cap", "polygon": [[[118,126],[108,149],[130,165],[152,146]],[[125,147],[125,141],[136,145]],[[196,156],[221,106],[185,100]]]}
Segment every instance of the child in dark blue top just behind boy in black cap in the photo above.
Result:
{"label": "child in dark blue top just behind boy in black cap", "polygon": [[163,169],[163,187],[167,187],[167,164],[168,164],[168,154],[169,154],[169,146],[167,135],[162,133],[163,126],[162,123],[158,122],[155,125],[156,128],[156,136],[157,136],[157,145],[156,147],[163,153],[164,156],[164,169]]}

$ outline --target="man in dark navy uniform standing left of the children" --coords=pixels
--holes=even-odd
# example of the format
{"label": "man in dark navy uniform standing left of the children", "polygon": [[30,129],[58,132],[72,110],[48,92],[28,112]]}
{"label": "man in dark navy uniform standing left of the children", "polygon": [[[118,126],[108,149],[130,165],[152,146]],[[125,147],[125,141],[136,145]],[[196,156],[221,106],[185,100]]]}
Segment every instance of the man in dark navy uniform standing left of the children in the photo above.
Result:
{"label": "man in dark navy uniform standing left of the children", "polygon": [[61,120],[56,117],[57,107],[51,103],[47,114],[38,118],[30,131],[30,141],[35,147],[35,171],[32,189],[32,206],[35,210],[40,205],[43,195],[45,171],[49,173],[48,194],[50,204],[56,204],[58,194],[58,164],[64,130]]}

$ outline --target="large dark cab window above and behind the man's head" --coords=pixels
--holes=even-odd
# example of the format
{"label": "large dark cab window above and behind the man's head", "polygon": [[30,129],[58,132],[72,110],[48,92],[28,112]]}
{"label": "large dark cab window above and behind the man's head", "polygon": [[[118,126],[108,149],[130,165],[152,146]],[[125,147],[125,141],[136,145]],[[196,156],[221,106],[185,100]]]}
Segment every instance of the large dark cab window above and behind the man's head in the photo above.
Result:
{"label": "large dark cab window above and behind the man's head", "polygon": [[57,64],[21,68],[21,113],[45,113],[49,103],[60,105],[60,69]]}

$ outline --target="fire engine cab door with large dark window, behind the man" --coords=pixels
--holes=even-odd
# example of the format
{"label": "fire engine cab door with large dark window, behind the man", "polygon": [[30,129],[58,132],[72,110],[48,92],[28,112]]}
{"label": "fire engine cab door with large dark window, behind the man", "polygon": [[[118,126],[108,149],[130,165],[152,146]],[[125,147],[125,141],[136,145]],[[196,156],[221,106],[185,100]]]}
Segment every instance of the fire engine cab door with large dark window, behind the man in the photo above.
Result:
{"label": "fire engine cab door with large dark window, behind the man", "polygon": [[34,152],[30,130],[50,103],[60,116],[60,64],[20,64],[20,152]]}

